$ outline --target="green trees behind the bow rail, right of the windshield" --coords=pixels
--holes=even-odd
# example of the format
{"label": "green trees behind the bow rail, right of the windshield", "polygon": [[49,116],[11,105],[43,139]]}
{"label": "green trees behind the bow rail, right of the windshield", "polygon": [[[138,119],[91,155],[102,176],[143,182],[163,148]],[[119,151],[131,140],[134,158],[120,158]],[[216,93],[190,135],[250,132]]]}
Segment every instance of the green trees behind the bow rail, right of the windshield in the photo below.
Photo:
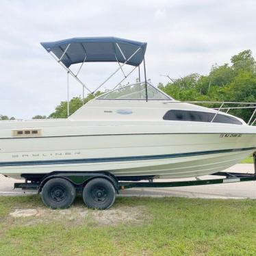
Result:
{"label": "green trees behind the bow rail, right of the windshield", "polygon": [[[242,51],[231,57],[231,64],[212,66],[209,75],[187,75],[179,79],[172,79],[172,82],[166,85],[159,84],[159,88],[180,101],[243,101],[255,103],[256,62],[251,50]],[[217,104],[211,107],[219,106]],[[248,121],[253,109],[231,110],[229,113]]]}

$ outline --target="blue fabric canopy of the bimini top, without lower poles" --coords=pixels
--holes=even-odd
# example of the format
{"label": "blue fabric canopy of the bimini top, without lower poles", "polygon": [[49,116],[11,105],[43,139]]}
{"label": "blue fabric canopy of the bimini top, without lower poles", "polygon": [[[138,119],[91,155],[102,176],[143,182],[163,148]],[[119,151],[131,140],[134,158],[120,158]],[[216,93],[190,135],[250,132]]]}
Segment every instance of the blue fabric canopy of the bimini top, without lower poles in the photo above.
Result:
{"label": "blue fabric canopy of the bimini top, without lower poles", "polygon": [[138,66],[146,51],[146,42],[114,37],[71,38],[41,44],[67,68],[82,62],[121,62]]}

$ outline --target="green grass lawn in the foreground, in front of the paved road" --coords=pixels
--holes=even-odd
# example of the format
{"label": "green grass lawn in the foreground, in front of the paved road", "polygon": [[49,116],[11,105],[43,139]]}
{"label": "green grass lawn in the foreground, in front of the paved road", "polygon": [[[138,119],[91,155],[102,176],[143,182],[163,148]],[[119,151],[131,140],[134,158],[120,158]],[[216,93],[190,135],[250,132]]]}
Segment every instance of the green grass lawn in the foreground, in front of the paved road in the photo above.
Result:
{"label": "green grass lawn in the foreground, in front of the paved road", "polygon": [[46,209],[40,197],[0,196],[0,255],[256,255],[256,200],[119,197],[122,207],[142,207],[142,221],[17,220],[14,209]]}

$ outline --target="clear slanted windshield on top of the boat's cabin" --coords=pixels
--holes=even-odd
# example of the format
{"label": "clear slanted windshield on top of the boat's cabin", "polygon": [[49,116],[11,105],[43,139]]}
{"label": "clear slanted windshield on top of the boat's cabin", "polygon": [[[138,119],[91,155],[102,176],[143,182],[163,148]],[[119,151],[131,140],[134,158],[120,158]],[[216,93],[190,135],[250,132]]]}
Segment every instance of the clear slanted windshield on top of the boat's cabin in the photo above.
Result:
{"label": "clear slanted windshield on top of the boat's cabin", "polygon": [[106,92],[102,94],[97,99],[137,99],[146,100],[146,91],[148,100],[169,100],[172,99],[168,97],[164,92],[151,86],[150,84],[133,84],[129,86],[123,86],[116,90]]}

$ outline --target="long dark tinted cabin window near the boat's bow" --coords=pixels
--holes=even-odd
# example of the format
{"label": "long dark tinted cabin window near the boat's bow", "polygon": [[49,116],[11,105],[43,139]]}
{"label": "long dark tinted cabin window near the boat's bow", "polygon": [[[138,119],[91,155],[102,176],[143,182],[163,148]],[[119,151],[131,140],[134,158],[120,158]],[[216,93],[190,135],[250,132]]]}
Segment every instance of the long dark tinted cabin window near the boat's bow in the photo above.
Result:
{"label": "long dark tinted cabin window near the boat's bow", "polygon": [[[211,122],[214,118],[214,113],[190,111],[190,110],[169,110],[164,115],[164,120],[180,120],[180,121],[192,121],[192,122]],[[226,116],[223,114],[217,114],[214,118],[214,123],[229,123],[235,125],[242,125],[240,120],[233,116]]]}

